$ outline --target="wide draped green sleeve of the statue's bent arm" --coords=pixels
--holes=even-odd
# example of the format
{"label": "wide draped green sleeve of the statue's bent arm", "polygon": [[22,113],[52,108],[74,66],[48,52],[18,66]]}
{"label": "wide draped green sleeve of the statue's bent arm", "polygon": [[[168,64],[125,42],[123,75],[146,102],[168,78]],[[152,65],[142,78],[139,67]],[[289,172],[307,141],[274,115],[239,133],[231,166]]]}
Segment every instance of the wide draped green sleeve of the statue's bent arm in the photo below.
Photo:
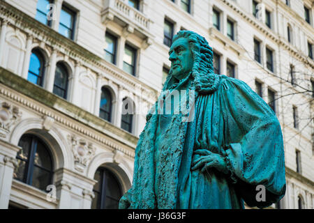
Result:
{"label": "wide draped green sleeve of the statue's bent arm", "polygon": [[[225,155],[235,188],[248,206],[270,206],[285,194],[281,125],[266,102],[241,80],[223,77],[218,91]],[[266,201],[257,201],[257,185],[264,185]]]}

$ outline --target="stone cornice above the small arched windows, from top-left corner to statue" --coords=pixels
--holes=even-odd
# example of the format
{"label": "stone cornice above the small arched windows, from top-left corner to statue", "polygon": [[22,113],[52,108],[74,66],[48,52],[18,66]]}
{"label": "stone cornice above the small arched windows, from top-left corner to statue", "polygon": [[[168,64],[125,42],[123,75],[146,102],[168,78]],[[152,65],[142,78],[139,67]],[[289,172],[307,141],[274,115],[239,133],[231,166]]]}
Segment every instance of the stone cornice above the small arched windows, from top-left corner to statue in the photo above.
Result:
{"label": "stone cornice above the small arched windows, from top-left corner to statue", "polygon": [[100,58],[88,49],[78,45],[73,42],[73,40],[62,36],[45,24],[38,22],[33,17],[23,13],[9,3],[6,3],[3,0],[0,0],[0,2],[0,20],[8,20],[11,25],[21,29],[21,32],[30,34],[31,36],[38,38],[40,41],[45,42],[47,45],[59,49],[60,52],[63,52],[63,54],[66,54],[75,61],[80,61],[84,65],[85,63],[90,64],[91,68],[95,69],[95,72],[101,70],[102,72],[112,75],[119,80],[118,84],[124,83],[124,85],[129,85],[130,89],[135,89],[135,86],[140,84],[142,89],[147,89],[154,93],[157,92],[156,89],[141,82],[137,77],[129,75],[116,66],[112,66],[112,64],[105,61],[105,59]]}

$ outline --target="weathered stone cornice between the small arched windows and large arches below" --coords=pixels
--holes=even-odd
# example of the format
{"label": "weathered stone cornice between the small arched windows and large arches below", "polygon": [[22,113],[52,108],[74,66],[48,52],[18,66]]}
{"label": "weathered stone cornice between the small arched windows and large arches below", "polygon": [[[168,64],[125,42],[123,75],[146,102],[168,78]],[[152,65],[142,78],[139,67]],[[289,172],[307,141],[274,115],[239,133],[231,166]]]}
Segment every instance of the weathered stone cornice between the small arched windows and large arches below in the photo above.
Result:
{"label": "weathered stone cornice between the small arched windows and large arches below", "polygon": [[[117,128],[94,114],[91,114],[84,109],[63,100],[62,98],[59,98],[57,95],[54,95],[53,93],[50,93],[49,91],[46,91],[45,89],[42,89],[41,87],[36,86],[35,84],[28,82],[26,79],[1,67],[0,84],[22,93],[23,95],[26,95],[27,97],[36,100],[36,102],[45,106],[38,106],[35,103],[20,97],[20,95],[15,94],[13,91],[8,91],[3,87],[0,88],[0,95],[4,95],[6,98],[15,100],[15,102],[29,107],[29,109],[32,109],[43,116],[50,116],[51,118],[54,118],[57,123],[60,123],[75,132],[80,132],[81,134],[98,141],[100,144],[105,144],[105,146],[112,148],[113,150],[118,150],[125,153],[129,157],[134,157],[133,152],[128,151],[128,149],[122,146],[125,145],[127,148],[132,150],[135,149],[138,138],[133,134]],[[57,112],[51,112],[45,107],[49,107]],[[58,112],[63,114],[63,116],[59,115]],[[64,116],[68,116],[69,118],[64,118]],[[75,123],[75,121],[82,123],[86,127],[82,128],[82,126]],[[96,130],[100,134],[94,134],[93,131],[88,130],[89,128]],[[106,139],[106,137],[103,137],[102,134],[107,135],[110,139]]]}

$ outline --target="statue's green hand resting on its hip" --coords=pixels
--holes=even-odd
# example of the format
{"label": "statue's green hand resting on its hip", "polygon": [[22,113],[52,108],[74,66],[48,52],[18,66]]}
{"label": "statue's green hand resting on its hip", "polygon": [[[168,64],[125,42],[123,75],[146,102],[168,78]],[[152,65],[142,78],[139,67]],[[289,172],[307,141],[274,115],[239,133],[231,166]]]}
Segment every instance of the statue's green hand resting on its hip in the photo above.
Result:
{"label": "statue's green hand resting on its hip", "polygon": [[211,167],[216,168],[224,174],[228,173],[227,163],[222,155],[211,153],[211,151],[208,151],[207,149],[198,149],[197,151],[194,151],[192,170],[201,169],[201,172],[204,173],[207,168]]}

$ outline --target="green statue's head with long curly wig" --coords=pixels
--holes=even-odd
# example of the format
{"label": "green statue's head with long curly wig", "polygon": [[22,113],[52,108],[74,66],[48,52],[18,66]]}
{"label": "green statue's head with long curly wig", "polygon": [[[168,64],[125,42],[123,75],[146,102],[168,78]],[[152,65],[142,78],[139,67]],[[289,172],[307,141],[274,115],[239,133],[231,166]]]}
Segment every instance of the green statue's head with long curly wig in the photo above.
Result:
{"label": "green statue's head with long curly wig", "polygon": [[213,49],[207,40],[193,31],[179,31],[170,47],[172,62],[164,89],[192,72],[195,87],[201,88],[202,80],[214,72]]}

